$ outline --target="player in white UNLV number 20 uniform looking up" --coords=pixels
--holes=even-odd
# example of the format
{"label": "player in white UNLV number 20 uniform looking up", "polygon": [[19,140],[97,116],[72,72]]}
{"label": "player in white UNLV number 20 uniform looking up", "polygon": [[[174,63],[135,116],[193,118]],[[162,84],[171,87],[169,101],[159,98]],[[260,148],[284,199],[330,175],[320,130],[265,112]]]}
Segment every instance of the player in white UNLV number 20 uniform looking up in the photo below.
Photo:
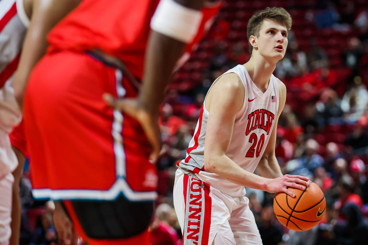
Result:
{"label": "player in white UNLV number 20 uniform looking up", "polygon": [[187,157],[177,163],[174,206],[183,244],[262,244],[244,187],[294,197],[287,187],[307,185],[307,177],[283,176],[275,157],[286,87],[272,73],[290,29],[283,8],[254,14],[247,26],[250,60],[208,91]]}

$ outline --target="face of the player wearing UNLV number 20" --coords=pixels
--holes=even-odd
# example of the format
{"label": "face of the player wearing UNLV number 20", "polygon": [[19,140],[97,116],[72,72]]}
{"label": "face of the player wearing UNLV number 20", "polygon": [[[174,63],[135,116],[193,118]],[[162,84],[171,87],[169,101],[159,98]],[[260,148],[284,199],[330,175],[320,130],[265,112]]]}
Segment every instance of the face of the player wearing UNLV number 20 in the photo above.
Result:
{"label": "face of the player wearing UNLV number 20", "polygon": [[257,38],[258,51],[263,57],[281,60],[287,47],[286,27],[272,19],[265,19],[259,37]]}

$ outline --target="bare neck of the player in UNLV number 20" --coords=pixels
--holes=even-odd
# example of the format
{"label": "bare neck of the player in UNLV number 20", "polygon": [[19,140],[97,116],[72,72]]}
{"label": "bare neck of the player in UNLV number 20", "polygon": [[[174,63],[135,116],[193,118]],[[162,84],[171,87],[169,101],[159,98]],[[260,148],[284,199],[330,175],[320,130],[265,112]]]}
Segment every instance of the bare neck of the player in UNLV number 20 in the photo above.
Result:
{"label": "bare neck of the player in UNLV number 20", "polygon": [[252,55],[250,60],[244,64],[253,83],[264,93],[268,88],[268,82],[276,63],[272,64],[265,60],[261,55]]}

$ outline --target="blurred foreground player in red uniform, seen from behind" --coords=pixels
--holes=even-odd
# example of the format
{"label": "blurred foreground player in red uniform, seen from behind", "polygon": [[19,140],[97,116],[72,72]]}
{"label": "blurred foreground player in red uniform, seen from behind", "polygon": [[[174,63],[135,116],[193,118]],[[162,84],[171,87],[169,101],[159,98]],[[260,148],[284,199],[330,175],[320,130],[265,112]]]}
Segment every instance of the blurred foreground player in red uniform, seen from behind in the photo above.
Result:
{"label": "blurred foreground player in red uniform, seen from behind", "polygon": [[[102,95],[137,97],[144,73],[138,114],[157,125],[174,65],[220,6],[158,2],[82,1],[49,33],[48,52],[29,77],[24,118],[33,195],[64,200],[56,202],[54,217],[65,244],[76,243],[73,228],[89,244],[149,243],[157,180],[149,157],[158,156],[158,130],[145,134],[145,125],[111,109]],[[24,52],[30,49],[25,44]],[[25,86],[26,80],[15,84],[21,104]]]}

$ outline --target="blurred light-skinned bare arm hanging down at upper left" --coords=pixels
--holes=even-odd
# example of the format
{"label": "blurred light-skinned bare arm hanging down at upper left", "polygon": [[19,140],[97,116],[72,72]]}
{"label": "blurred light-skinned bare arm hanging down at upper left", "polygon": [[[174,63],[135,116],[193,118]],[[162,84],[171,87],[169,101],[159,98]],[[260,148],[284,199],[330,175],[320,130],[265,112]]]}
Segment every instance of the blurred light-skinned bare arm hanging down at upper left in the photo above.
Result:
{"label": "blurred light-skinned bare arm hanging down at upper left", "polygon": [[14,77],[14,93],[20,107],[33,67],[45,54],[46,35],[64,16],[78,6],[81,0],[34,0],[32,17],[24,40],[22,55]]}

